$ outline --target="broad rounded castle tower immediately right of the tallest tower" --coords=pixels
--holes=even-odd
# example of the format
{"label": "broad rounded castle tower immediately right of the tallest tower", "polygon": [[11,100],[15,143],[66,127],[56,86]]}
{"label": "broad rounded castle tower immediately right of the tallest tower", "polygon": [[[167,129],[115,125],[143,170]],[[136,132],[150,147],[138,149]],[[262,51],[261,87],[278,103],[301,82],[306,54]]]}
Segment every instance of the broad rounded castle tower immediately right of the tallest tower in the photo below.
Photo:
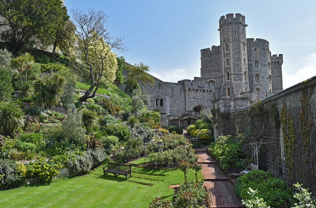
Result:
{"label": "broad rounded castle tower immediately right of the tallest tower", "polygon": [[272,92],[269,42],[247,38],[249,91]]}

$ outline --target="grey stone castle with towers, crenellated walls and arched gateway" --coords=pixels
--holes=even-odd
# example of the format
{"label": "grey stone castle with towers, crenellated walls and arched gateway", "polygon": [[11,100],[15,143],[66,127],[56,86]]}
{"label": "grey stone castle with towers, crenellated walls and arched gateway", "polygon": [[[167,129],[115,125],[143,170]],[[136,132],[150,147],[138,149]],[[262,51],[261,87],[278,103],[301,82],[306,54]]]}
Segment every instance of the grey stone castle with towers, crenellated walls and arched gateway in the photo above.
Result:
{"label": "grey stone castle with towers, crenellated walls and arched gateway", "polygon": [[[149,109],[158,108],[161,125],[187,126],[202,108],[239,109],[283,90],[283,55],[272,55],[269,42],[246,38],[245,16],[219,20],[220,45],[201,50],[201,77],[164,82],[153,77]],[[123,86],[122,86],[123,87]]]}

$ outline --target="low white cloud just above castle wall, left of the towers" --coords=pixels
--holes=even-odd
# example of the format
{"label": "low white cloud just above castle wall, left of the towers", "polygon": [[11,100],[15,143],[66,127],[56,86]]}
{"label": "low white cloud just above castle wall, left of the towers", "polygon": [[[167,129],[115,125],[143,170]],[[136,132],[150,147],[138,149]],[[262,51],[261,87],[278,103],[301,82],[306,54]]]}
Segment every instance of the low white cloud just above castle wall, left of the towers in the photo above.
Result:
{"label": "low white cloud just above castle wall, left of the towers", "polygon": [[193,80],[194,76],[200,76],[199,70],[191,70],[188,71],[185,68],[182,69],[169,69],[169,70],[161,70],[159,73],[156,71],[151,71],[150,74],[152,76],[157,77],[158,79],[164,81],[164,82],[178,82],[179,80],[183,79],[190,79]]}

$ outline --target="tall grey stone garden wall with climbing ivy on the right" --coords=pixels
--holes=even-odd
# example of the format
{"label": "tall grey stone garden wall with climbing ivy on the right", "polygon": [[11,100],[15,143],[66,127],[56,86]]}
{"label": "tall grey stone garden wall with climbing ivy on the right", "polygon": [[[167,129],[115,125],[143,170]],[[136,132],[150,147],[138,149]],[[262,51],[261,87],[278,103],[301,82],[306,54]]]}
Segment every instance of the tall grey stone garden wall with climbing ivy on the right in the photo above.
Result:
{"label": "tall grey stone garden wall with climbing ivy on the right", "polygon": [[[214,125],[221,135],[245,133],[249,141],[268,142],[261,168],[289,185],[299,182],[316,196],[316,76],[251,107],[221,112]],[[260,168],[260,166],[259,166]]]}

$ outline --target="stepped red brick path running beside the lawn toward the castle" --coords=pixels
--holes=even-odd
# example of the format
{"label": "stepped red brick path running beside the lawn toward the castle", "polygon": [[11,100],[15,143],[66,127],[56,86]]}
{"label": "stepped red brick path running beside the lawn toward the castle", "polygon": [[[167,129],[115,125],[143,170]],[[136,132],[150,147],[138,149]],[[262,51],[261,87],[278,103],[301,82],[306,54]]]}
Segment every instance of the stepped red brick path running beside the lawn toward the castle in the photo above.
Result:
{"label": "stepped red brick path running beside the lawn toward the castle", "polygon": [[203,165],[204,186],[210,196],[210,207],[240,208],[241,199],[235,194],[234,187],[228,176],[219,168],[216,161],[207,154],[206,147],[196,148],[198,162]]}

